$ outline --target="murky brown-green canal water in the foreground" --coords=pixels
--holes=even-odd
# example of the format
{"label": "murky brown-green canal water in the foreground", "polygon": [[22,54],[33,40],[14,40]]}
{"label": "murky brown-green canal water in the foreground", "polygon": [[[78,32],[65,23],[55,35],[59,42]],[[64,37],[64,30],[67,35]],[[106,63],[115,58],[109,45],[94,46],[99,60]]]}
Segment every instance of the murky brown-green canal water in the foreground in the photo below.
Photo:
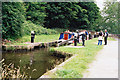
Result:
{"label": "murky brown-green canal water in the foreground", "polygon": [[53,56],[49,49],[39,49],[29,52],[3,53],[4,63],[14,64],[14,67],[20,67],[20,73],[25,72],[31,78],[39,78],[48,70],[51,70],[65,60],[65,56]]}

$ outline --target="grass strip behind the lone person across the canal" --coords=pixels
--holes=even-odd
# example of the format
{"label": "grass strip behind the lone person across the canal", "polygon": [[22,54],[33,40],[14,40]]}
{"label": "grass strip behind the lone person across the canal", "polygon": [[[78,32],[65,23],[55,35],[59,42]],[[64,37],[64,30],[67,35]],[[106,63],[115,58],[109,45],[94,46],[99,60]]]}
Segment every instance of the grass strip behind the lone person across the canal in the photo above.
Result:
{"label": "grass strip behind the lone person across the canal", "polygon": [[[54,35],[36,35],[34,42],[50,42],[55,41],[59,39],[60,34],[54,34]],[[28,45],[25,44],[25,42],[31,42],[31,36],[23,36],[20,39],[17,39],[16,41],[12,41],[11,43],[7,43],[7,45]]]}

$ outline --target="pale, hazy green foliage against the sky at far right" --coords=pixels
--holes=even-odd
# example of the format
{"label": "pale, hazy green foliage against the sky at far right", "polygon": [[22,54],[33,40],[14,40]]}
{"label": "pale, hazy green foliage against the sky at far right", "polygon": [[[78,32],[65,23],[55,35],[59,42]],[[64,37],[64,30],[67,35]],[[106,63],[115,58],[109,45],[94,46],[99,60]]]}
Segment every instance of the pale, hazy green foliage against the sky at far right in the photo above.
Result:
{"label": "pale, hazy green foliage against the sky at far right", "polygon": [[103,9],[103,23],[102,28],[107,29],[109,33],[120,34],[118,27],[118,2],[106,2]]}

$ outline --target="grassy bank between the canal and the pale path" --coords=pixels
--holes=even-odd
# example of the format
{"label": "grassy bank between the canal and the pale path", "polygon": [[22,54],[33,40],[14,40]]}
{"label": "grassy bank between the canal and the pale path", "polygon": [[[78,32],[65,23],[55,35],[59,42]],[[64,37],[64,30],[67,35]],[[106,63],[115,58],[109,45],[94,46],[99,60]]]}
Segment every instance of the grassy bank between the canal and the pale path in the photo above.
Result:
{"label": "grassy bank between the canal and the pale path", "polygon": [[[98,46],[96,44],[97,40],[86,41],[86,46],[83,48],[52,48],[52,50],[77,54],[77,56],[66,63],[61,70],[57,70],[55,73],[49,75],[53,78],[82,78],[83,72],[88,68],[88,64],[95,59],[97,52],[103,48],[103,45]],[[108,40],[115,39],[109,38]],[[81,46],[81,44],[78,45]]]}

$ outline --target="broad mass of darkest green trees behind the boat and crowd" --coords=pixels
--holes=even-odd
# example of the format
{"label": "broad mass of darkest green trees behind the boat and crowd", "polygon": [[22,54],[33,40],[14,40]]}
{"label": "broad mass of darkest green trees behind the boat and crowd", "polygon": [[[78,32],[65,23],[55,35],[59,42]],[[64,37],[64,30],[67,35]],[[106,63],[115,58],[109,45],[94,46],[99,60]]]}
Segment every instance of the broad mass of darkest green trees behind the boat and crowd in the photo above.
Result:
{"label": "broad mass of darkest green trees behind the boat and crowd", "polygon": [[49,2],[45,27],[66,29],[92,29],[100,15],[94,2]]}

